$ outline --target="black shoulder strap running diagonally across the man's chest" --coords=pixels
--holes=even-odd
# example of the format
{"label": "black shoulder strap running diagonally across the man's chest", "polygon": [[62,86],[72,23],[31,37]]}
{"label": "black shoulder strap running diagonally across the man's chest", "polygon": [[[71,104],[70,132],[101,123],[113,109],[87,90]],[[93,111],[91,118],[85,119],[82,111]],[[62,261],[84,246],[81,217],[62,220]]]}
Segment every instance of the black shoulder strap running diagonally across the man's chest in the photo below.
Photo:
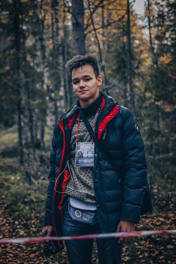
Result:
{"label": "black shoulder strap running diagonally across the man's chest", "polygon": [[100,143],[100,141],[97,138],[96,134],[94,133],[91,124],[89,123],[87,117],[84,115],[84,113],[83,113],[82,110],[80,110],[80,117],[82,118],[82,120],[84,122],[84,125],[86,126],[89,134],[91,135],[92,140],[96,144],[96,146],[99,149],[99,151],[101,151],[101,153],[103,154],[104,158],[111,165],[111,167],[113,168],[113,170],[117,173],[117,176],[120,178],[120,180],[123,180],[123,178],[122,178],[122,172],[121,172],[121,170],[120,170],[117,162],[115,162],[113,160],[112,155],[102,146],[102,144]]}

